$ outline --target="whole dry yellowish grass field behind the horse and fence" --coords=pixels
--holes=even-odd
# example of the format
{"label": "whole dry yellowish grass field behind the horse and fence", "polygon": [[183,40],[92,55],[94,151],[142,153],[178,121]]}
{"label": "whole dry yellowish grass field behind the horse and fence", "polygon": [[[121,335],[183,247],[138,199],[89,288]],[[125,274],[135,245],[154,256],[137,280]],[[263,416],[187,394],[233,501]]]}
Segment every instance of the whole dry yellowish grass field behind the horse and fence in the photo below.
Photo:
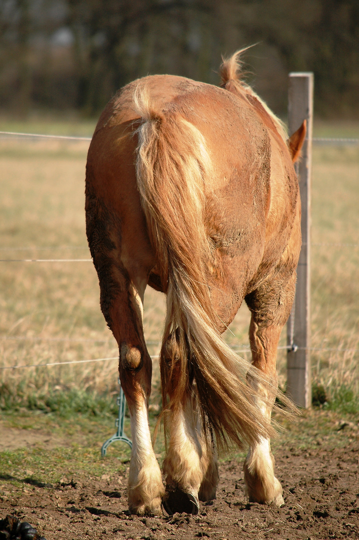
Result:
{"label": "whole dry yellowish grass field behind the horse and fence", "polygon": [[[1,129],[91,136],[93,124],[34,120],[28,125],[3,122]],[[358,137],[359,126],[320,123],[316,134]],[[0,140],[0,259],[90,258],[84,224],[87,147],[86,141]],[[349,410],[357,406],[359,394],[358,171],[358,146],[314,148],[313,381],[316,396],[321,390],[319,401],[342,401]],[[117,356],[116,343],[100,313],[91,262],[0,262],[0,276],[0,367]],[[164,309],[163,296],[148,290],[144,321],[151,355],[158,354]],[[239,348],[246,345],[248,323],[243,306],[225,339]],[[281,345],[285,342],[283,332]],[[278,371],[284,387],[282,350]],[[155,377],[158,381],[157,372]],[[65,404],[70,410],[73,402],[74,408],[83,407],[85,412],[98,407],[116,414],[115,405],[101,402],[104,394],[117,394],[116,359],[5,369],[0,371],[0,385],[3,410],[30,407],[65,414]],[[94,401],[79,398],[81,392]],[[158,399],[155,391],[154,406]]]}

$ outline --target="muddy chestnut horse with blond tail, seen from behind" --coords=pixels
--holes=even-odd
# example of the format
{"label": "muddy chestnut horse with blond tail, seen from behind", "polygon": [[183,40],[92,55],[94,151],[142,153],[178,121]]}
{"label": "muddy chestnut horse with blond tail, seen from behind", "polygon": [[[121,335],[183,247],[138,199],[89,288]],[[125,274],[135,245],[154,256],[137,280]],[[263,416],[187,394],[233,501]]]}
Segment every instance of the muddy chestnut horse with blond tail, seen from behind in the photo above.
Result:
{"label": "muddy chestnut horse with blond tail, seen from behind", "polygon": [[[89,147],[86,233],[101,311],[119,347],[133,514],[197,514],[199,501],[215,498],[218,449],[231,444],[249,446],[249,501],[283,504],[270,419],[301,248],[293,161],[305,125],[287,141],[243,82],[240,54],[223,59],[220,86],[172,75],[126,85]],[[166,487],[148,425],[147,285],[167,301],[159,358]],[[221,338],[243,300],[252,366]]]}

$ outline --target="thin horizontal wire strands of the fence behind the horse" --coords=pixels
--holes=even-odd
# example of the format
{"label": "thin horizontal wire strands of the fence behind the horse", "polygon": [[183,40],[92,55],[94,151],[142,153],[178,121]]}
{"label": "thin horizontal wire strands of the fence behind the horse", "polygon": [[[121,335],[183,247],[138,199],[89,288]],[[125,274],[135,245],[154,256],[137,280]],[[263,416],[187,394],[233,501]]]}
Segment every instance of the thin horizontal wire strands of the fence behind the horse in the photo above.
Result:
{"label": "thin horizontal wire strands of the fence behind the horse", "polygon": [[[79,137],[79,136],[62,136],[62,135],[49,135],[49,134],[39,134],[39,133],[22,133],[22,132],[12,132],[12,131],[0,131],[0,139],[47,139],[47,140],[69,140],[69,141],[91,141],[91,137]],[[359,145],[359,138],[323,138],[323,137],[314,137],[313,143],[317,145],[336,145],[336,146],[353,146]],[[319,242],[311,243],[311,246],[317,247],[349,247],[349,248],[358,248],[359,244],[355,243],[338,243],[338,242]],[[28,246],[28,247],[13,247],[13,246],[0,246],[0,252],[4,251],[84,251],[88,250],[87,246]],[[92,259],[0,259],[0,262],[92,262]],[[76,339],[76,338],[52,338],[49,336],[18,336],[18,335],[0,335],[0,340],[18,340],[18,341],[49,341],[49,342],[76,342],[76,343],[104,343],[110,345],[111,340],[101,340],[101,339]],[[147,341],[147,345],[156,345],[160,346],[158,341]],[[236,353],[250,353],[251,349],[249,346],[236,345],[234,343],[228,344],[235,350]],[[298,348],[298,347],[297,347]],[[359,349],[355,348],[336,348],[336,347],[299,347],[300,349],[306,349],[311,351],[318,352],[350,352],[357,353]],[[290,346],[280,346],[279,350],[290,350]],[[151,356],[151,359],[157,359],[158,356]],[[40,367],[51,367],[51,366],[63,366],[63,365],[73,365],[73,364],[82,364],[90,362],[104,362],[109,360],[118,360],[118,356],[111,356],[105,358],[96,358],[89,360],[74,360],[74,361],[61,361],[61,362],[50,362],[50,363],[39,363],[31,365],[19,365],[19,366],[4,366],[0,367],[0,370],[5,369],[23,369],[23,368],[40,368]]]}

